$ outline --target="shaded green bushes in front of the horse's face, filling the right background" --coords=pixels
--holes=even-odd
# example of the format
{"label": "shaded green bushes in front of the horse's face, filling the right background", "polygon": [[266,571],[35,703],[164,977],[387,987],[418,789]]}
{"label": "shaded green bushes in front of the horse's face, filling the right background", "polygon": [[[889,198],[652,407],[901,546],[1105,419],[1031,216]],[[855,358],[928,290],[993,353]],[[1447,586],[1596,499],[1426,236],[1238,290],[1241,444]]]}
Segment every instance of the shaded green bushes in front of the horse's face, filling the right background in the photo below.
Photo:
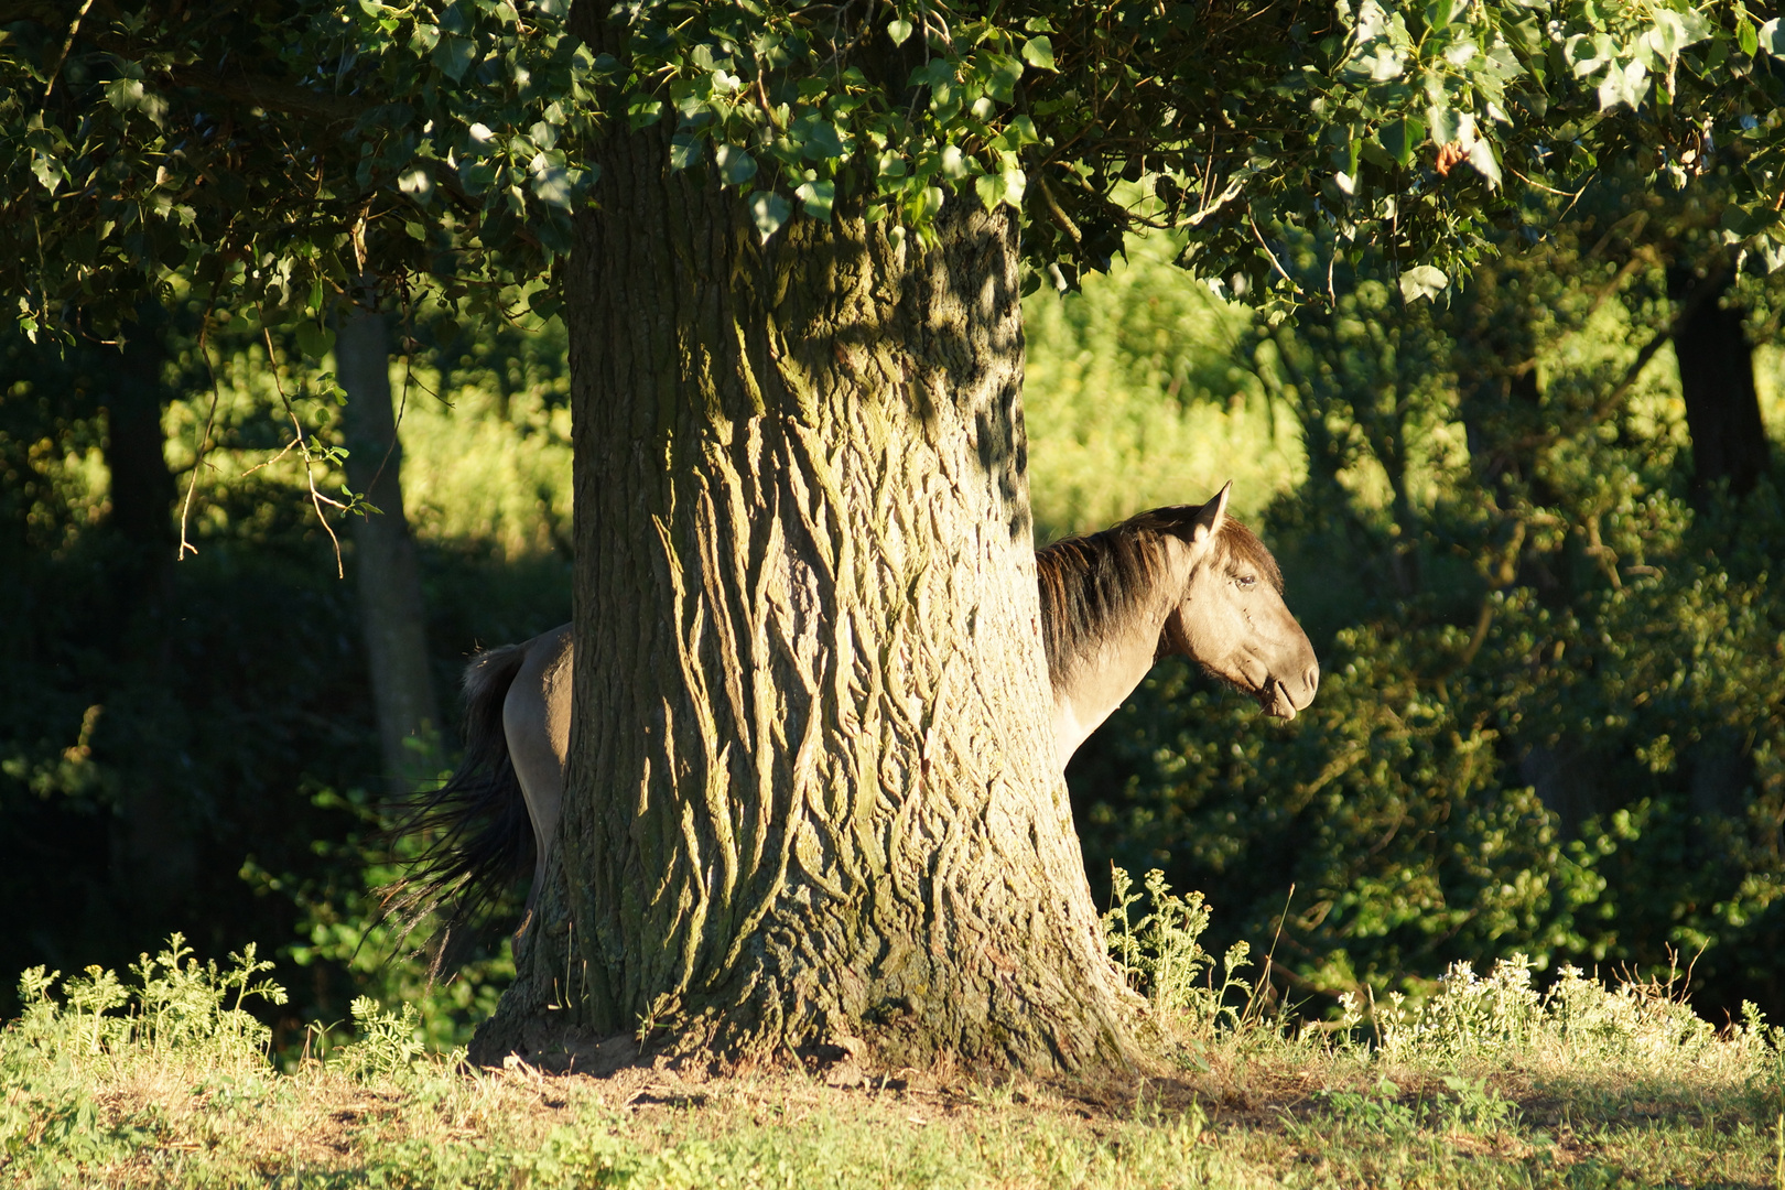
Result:
{"label": "shaded green bushes in front of the horse's face, filling the right background", "polygon": [[1596,205],[1449,307],[1349,278],[1257,325],[1242,351],[1307,444],[1264,528],[1321,692],[1258,730],[1155,671],[1069,774],[1092,876],[1160,867],[1226,940],[1282,919],[1303,992],[1708,947],[1701,1006],[1780,1010],[1778,478],[1692,507],[1637,223]]}

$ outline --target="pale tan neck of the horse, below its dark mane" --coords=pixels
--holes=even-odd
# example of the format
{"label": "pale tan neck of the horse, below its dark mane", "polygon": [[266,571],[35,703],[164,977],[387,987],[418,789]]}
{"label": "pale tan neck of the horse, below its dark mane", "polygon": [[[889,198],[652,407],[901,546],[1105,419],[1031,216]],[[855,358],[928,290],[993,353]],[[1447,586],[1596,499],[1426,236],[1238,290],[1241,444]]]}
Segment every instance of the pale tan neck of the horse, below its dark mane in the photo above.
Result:
{"label": "pale tan neck of the horse, below its dark mane", "polygon": [[1155,582],[1137,592],[1135,601],[1091,624],[1078,655],[1053,682],[1053,731],[1062,769],[1153,667],[1166,619],[1189,582],[1191,551],[1182,541],[1158,535],[1142,548],[1160,551],[1151,567]]}

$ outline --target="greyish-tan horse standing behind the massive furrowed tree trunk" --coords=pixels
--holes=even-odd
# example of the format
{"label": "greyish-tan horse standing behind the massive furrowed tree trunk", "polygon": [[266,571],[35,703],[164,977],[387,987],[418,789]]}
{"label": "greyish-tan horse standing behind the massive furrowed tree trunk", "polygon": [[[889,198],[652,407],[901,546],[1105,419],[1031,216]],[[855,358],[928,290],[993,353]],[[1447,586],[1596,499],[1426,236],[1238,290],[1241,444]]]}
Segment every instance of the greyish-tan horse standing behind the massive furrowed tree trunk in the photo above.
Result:
{"label": "greyish-tan horse standing behind the massive furrowed tree trunk", "polygon": [[[1191,658],[1278,719],[1314,701],[1314,646],[1283,603],[1271,551],[1226,514],[1232,489],[1035,553],[1062,771],[1164,657]],[[516,942],[525,935],[564,799],[575,653],[571,626],[562,624],[466,665],[464,764],[419,794],[400,826],[436,835],[393,890],[411,924],[457,897],[444,930],[452,935],[532,867]],[[443,938],[436,967],[444,947]]]}

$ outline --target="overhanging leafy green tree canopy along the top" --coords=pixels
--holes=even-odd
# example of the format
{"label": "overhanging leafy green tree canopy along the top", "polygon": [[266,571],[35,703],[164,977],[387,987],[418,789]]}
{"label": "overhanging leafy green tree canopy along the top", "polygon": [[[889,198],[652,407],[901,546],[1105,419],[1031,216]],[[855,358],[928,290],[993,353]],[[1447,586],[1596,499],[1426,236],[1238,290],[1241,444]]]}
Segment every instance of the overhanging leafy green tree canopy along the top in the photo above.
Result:
{"label": "overhanging leafy green tree canopy along the top", "polygon": [[[732,4],[12,0],[0,252],[27,330],[109,334],[180,271],[320,319],[371,269],[484,309],[550,277],[591,145],[655,128],[764,237],[862,203],[923,236],[951,193],[1025,216],[1071,285],[1139,225],[1253,302],[1369,266],[1440,293],[1608,155],[1724,175],[1719,234],[1785,262],[1785,30],[1742,0]],[[1137,198],[1123,180],[1146,180]],[[1546,207],[1553,211],[1553,205]],[[1526,216],[1532,218],[1532,216]],[[512,293],[509,294],[512,300]],[[532,294],[553,309],[550,287]]]}

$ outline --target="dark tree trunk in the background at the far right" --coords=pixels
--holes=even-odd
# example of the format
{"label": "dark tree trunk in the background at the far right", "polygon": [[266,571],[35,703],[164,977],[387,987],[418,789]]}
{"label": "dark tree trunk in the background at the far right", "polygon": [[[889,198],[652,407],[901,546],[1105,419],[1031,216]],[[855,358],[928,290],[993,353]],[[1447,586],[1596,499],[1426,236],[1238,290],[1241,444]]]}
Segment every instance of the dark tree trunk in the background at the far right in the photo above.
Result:
{"label": "dark tree trunk in the background at the far right", "polygon": [[1685,268],[1667,271],[1667,287],[1680,303],[1674,332],[1680,394],[1692,435],[1692,501],[1699,507],[1717,482],[1746,496],[1767,471],[1767,432],[1755,391],[1755,351],[1742,330],[1744,310],[1724,305],[1733,273],[1715,268],[1694,278]]}

